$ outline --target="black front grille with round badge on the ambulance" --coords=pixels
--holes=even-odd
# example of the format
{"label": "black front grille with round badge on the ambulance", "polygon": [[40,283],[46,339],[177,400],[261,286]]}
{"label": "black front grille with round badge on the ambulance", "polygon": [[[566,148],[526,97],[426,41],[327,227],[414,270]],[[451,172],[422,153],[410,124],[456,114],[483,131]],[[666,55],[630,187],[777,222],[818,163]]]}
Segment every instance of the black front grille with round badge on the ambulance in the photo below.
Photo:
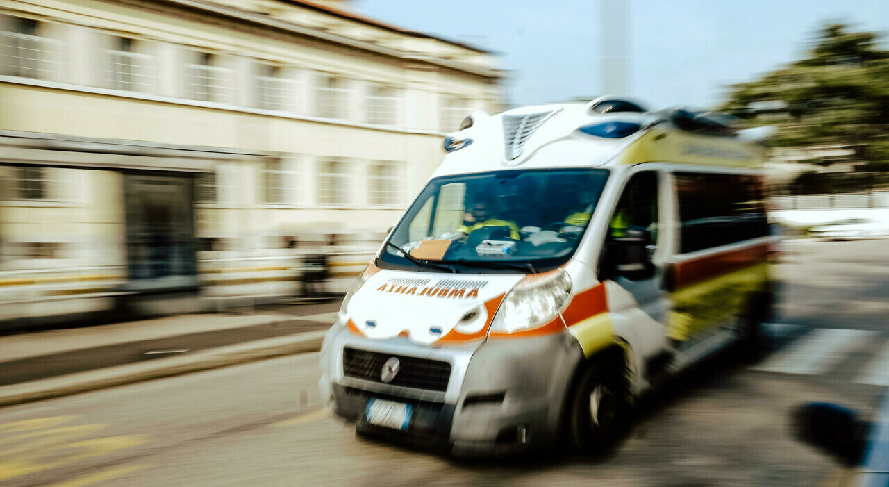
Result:
{"label": "black front grille with round badge on the ambulance", "polygon": [[451,378],[451,364],[438,360],[404,355],[381,354],[368,350],[346,347],[342,352],[342,371],[346,377],[370,380],[383,384],[383,364],[395,357],[400,363],[395,379],[388,384],[432,391],[447,390]]}

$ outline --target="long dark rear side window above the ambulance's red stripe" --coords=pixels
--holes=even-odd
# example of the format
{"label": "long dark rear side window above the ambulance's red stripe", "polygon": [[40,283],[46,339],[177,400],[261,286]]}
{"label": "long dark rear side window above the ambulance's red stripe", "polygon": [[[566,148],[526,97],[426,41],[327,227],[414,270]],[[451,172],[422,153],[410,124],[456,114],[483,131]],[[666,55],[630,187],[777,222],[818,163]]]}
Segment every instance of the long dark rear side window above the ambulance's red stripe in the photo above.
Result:
{"label": "long dark rear side window above the ambulance's red stripe", "polygon": [[682,251],[767,236],[762,181],[747,174],[678,172]]}

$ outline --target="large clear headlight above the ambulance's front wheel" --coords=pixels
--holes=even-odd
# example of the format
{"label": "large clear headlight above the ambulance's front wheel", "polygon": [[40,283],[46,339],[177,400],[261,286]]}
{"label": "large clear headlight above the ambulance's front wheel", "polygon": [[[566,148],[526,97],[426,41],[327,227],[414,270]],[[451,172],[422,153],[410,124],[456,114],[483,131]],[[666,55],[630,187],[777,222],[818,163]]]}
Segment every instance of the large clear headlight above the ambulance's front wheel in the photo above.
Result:
{"label": "large clear headlight above the ambulance's front wheel", "polygon": [[556,319],[571,295],[571,277],[562,269],[527,275],[503,298],[491,323],[491,334],[538,328]]}

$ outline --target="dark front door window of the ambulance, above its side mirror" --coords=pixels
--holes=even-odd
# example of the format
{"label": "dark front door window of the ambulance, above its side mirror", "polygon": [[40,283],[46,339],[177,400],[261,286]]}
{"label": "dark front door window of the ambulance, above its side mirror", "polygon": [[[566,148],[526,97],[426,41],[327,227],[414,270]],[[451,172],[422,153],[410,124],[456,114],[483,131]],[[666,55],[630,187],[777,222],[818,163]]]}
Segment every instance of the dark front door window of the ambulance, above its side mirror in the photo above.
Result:
{"label": "dark front door window of the ambulance, above its side mirror", "polygon": [[630,178],[614,209],[608,235],[626,236],[632,228],[645,229],[651,245],[658,242],[658,176],[656,172],[638,172]]}

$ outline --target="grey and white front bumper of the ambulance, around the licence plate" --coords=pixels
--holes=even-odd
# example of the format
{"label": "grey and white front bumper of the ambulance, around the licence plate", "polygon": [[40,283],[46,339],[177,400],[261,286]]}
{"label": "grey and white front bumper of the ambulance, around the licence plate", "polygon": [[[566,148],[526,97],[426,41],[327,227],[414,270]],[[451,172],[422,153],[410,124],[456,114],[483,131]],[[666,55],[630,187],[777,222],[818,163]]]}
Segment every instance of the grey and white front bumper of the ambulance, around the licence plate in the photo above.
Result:
{"label": "grey and white front bumper of the ambulance, around the licence plate", "polygon": [[[381,370],[356,373],[355,350],[362,363],[368,356],[374,364],[402,359],[404,381],[384,383],[376,376]],[[334,325],[321,353],[320,389],[332,411],[355,422],[361,432],[461,456],[500,454],[557,438],[565,395],[582,360],[581,347],[567,333],[427,347],[404,338],[365,339]],[[422,374],[408,368],[437,371],[442,363],[450,365],[446,385],[445,380],[422,382],[417,379]],[[410,404],[409,424],[400,429],[372,425],[368,404],[376,400]]]}

